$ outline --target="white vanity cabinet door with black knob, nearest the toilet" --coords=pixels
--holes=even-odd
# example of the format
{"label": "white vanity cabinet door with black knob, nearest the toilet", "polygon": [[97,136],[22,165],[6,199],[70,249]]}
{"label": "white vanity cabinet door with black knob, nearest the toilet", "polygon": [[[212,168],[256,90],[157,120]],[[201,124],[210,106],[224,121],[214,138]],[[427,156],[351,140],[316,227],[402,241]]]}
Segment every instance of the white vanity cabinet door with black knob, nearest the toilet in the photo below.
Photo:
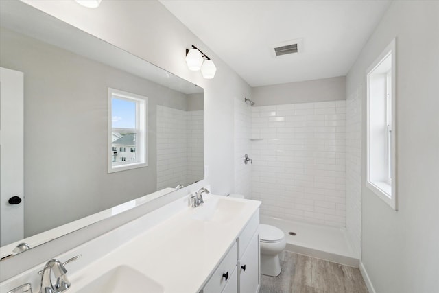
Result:
{"label": "white vanity cabinet door with black knob, nearest the toilet", "polygon": [[238,282],[240,293],[256,293],[259,290],[259,233],[254,233],[244,255],[238,261]]}

